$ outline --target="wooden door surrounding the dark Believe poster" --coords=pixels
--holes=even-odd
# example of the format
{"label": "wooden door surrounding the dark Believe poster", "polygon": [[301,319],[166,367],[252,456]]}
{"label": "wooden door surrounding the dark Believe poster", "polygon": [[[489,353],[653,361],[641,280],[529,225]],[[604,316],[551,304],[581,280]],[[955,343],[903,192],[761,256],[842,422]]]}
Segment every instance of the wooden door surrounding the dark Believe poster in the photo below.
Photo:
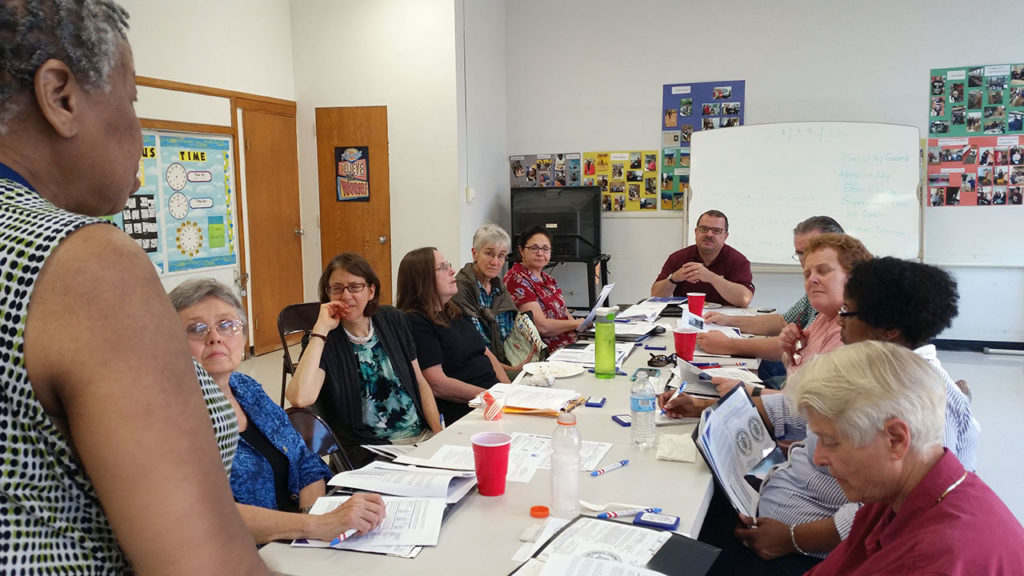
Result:
{"label": "wooden door surrounding the dark Believe poster", "polygon": [[[370,200],[340,202],[335,149],[362,146],[370,148]],[[323,265],[340,252],[362,254],[381,279],[381,303],[391,303],[387,108],[317,108],[316,173]]]}

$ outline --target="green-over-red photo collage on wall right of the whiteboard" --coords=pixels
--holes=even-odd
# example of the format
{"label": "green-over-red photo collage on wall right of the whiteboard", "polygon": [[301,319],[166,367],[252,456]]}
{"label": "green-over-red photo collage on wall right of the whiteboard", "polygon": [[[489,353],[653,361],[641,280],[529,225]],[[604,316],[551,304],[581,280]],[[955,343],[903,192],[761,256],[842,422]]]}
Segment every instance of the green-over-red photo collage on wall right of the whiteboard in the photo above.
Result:
{"label": "green-over-red photo collage on wall right of the whiteboard", "polygon": [[939,206],[1020,206],[1024,64],[931,71],[928,194]]}

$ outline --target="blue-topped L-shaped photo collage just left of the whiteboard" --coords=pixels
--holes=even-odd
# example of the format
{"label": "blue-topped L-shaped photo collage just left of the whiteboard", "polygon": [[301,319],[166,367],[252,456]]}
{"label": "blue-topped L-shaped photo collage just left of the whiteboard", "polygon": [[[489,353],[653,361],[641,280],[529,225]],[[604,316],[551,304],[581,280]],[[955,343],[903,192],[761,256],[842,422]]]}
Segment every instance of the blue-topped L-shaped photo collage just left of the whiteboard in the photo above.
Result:
{"label": "blue-topped L-shaped photo collage just left of the whiteboard", "polygon": [[662,89],[663,210],[684,210],[690,192],[690,137],[743,124],[742,80],[666,84]]}

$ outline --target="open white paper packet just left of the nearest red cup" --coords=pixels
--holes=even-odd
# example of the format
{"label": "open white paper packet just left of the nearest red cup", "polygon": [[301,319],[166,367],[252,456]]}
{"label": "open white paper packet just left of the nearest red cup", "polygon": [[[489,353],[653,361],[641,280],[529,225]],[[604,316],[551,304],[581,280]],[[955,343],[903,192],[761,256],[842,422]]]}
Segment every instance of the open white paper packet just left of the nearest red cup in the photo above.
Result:
{"label": "open white paper packet just left of the nearest red cup", "polygon": [[359,469],[343,471],[328,484],[396,496],[442,498],[454,503],[476,486],[476,475],[373,461]]}

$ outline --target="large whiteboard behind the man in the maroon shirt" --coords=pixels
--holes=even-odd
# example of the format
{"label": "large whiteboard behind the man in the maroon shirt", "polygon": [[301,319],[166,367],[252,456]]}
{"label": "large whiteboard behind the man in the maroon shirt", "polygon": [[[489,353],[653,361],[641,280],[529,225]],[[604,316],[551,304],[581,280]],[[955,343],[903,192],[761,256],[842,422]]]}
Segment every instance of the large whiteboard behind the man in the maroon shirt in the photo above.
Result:
{"label": "large whiteboard behind the man in the maroon shirt", "polygon": [[758,124],[694,132],[690,230],[729,217],[728,244],[756,263],[794,264],[793,229],[836,218],[876,255],[921,248],[920,132],[862,122]]}

